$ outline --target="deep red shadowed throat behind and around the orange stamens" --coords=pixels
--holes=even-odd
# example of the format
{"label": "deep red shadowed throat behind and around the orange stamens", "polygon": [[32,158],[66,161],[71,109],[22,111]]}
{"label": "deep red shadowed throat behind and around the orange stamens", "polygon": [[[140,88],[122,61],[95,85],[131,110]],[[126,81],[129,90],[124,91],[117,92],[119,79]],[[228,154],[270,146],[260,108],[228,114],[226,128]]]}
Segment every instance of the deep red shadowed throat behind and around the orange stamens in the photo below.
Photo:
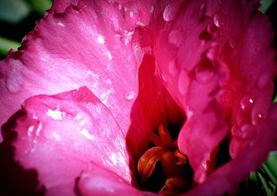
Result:
{"label": "deep red shadowed throat behind and around the orange stamens", "polygon": [[168,127],[173,141],[177,140],[180,129],[184,125],[185,114],[172,99],[156,69],[155,59],[152,55],[144,55],[139,68],[139,95],[134,101],[131,112],[131,125],[127,132],[126,143],[129,156],[133,162],[129,163],[134,176],[132,185],[142,190],[159,192],[166,181],[158,162],[155,172],[148,182],[141,186],[137,173],[137,163],[143,153],[152,147],[152,143],[145,134],[146,127],[152,133],[157,133],[159,124]]}

